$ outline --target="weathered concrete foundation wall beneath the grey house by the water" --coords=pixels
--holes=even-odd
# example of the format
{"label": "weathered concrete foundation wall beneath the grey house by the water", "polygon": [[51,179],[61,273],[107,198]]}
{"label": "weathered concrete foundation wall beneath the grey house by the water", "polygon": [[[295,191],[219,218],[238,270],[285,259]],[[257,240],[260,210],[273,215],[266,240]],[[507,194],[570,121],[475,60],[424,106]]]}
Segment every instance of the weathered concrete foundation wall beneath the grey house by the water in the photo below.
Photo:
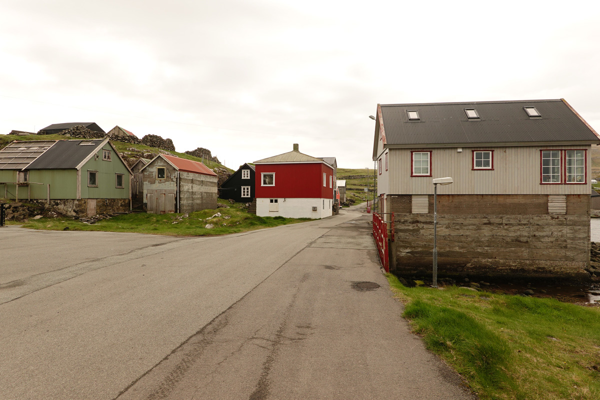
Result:
{"label": "weathered concrete foundation wall beneath the grey house by the water", "polygon": [[[587,277],[589,196],[567,196],[566,214],[549,214],[544,195],[446,195],[437,200],[440,276]],[[433,196],[429,213],[411,213],[411,201],[412,196],[388,196],[395,213],[391,267],[399,275],[430,272],[433,263]]]}

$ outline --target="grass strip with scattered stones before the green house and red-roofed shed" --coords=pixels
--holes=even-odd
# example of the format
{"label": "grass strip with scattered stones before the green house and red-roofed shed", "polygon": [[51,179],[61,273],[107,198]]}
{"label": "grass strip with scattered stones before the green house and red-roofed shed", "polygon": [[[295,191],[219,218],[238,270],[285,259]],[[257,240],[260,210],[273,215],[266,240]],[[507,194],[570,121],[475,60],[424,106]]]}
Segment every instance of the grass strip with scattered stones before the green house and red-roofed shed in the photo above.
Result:
{"label": "grass strip with scattered stones before the green house and red-roofed shed", "polygon": [[[220,212],[221,216],[207,219]],[[217,210],[202,210],[184,214],[148,214],[131,213],[101,219],[95,224],[85,224],[70,218],[40,218],[28,222],[8,222],[11,225],[20,224],[24,228],[43,230],[86,230],[109,232],[134,232],[164,234],[169,236],[212,236],[228,233],[239,233],[278,225],[295,224],[296,222],[311,221],[308,218],[284,218],[283,216],[257,216],[239,209],[238,207],[220,208]],[[206,224],[214,225],[206,228]]]}

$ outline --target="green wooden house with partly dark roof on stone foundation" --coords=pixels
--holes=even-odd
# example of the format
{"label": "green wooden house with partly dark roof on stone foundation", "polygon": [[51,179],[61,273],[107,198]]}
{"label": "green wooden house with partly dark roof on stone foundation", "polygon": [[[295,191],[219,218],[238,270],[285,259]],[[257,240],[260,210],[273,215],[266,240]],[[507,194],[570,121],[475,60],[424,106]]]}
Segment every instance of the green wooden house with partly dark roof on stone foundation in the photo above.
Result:
{"label": "green wooden house with partly dark roof on stone foundation", "polygon": [[12,142],[0,150],[0,197],[66,215],[125,212],[131,170],[108,139]]}

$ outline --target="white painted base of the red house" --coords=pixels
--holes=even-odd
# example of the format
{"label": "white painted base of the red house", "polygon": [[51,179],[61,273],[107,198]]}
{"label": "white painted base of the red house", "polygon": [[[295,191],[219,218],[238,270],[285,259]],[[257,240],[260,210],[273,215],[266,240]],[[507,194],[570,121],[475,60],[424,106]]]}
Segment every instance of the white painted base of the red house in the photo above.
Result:
{"label": "white painted base of the red house", "polygon": [[[325,207],[323,207],[323,202]],[[277,204],[277,206],[275,206]],[[316,210],[313,211],[313,207]],[[331,199],[256,199],[256,215],[285,216],[286,218],[325,218],[331,216]]]}

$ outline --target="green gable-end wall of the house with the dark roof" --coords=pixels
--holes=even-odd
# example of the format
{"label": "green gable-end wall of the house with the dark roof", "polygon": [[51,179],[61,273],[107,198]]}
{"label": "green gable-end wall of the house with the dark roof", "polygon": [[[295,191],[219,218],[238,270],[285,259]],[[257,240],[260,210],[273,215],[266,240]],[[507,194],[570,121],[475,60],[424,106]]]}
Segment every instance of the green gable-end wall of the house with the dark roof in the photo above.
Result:
{"label": "green gable-end wall of the house with the dark roof", "polygon": [[[98,159],[92,157],[81,168],[82,199],[129,199],[130,175],[125,164],[108,143],[103,149],[110,150],[111,161],[102,160],[102,149],[98,151]],[[98,187],[88,187],[88,171],[98,171]],[[123,174],[123,188],[116,187],[116,174]]]}

